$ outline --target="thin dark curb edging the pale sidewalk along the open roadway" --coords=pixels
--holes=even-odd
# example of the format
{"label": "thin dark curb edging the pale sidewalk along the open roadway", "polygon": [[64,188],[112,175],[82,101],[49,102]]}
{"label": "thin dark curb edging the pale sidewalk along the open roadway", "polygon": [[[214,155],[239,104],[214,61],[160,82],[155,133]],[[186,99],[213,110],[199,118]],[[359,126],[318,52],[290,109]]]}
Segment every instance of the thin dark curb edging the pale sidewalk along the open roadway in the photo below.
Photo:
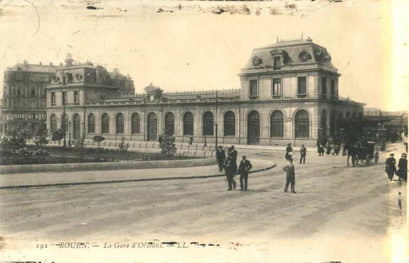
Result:
{"label": "thin dark curb edging the pale sidewalk along the open roadway", "polygon": [[[264,172],[276,167],[277,164],[272,166],[251,171],[249,173]],[[183,179],[201,179],[201,178],[212,178],[212,177],[223,177],[224,174],[214,174],[214,175],[201,175],[201,176],[176,176],[176,177],[161,177],[161,178],[145,178],[145,179],[126,179],[126,180],[112,180],[112,181],[90,181],[90,182],[64,182],[64,183],[50,183],[47,185],[22,185],[22,186],[6,186],[0,187],[0,190],[10,190],[10,189],[27,189],[27,188],[43,188],[43,187],[64,187],[64,186],[81,186],[81,185],[102,185],[105,183],[120,183],[120,182],[141,182],[141,181],[163,181],[163,180],[183,180]]]}

